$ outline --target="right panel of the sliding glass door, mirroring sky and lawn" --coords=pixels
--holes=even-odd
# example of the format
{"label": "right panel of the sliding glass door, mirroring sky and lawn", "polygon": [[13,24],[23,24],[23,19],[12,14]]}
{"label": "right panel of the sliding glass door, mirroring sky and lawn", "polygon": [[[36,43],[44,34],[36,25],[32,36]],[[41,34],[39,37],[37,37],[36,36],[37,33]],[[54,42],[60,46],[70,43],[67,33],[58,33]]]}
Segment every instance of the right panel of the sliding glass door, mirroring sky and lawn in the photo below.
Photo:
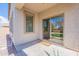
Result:
{"label": "right panel of the sliding glass door, mirroring sky and lawn", "polygon": [[64,17],[57,16],[50,19],[50,38],[55,42],[63,40]]}

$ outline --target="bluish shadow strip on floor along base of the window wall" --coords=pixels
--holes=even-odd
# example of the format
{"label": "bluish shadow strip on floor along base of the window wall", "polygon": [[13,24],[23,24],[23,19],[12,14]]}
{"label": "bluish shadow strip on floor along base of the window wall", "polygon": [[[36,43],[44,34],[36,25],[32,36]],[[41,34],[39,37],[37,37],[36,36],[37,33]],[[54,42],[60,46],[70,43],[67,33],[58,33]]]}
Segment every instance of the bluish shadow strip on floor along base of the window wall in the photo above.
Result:
{"label": "bluish shadow strip on floor along base of the window wall", "polygon": [[37,44],[39,42],[41,42],[41,40],[34,40],[34,41],[31,41],[31,42],[28,42],[28,43],[24,43],[24,44],[18,45],[18,46],[16,46],[17,47],[17,49],[16,49],[17,53],[21,52],[20,53],[21,56],[22,55],[26,56],[27,54],[26,54],[26,52],[23,51],[23,49],[28,48],[28,47],[30,47],[32,45],[35,45],[35,44]]}

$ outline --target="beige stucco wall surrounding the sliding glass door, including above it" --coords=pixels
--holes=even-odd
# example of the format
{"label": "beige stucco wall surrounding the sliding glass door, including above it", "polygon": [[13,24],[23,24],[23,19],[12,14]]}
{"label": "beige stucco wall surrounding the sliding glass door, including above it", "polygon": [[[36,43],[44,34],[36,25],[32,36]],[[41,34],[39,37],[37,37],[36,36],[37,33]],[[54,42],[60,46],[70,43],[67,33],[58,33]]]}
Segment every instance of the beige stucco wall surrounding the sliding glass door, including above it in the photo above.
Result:
{"label": "beige stucco wall surrounding the sliding glass door, including above it", "polygon": [[[65,47],[79,51],[79,4],[60,4],[39,14],[40,22],[64,13],[64,40]],[[40,37],[42,37],[42,23],[40,23]]]}

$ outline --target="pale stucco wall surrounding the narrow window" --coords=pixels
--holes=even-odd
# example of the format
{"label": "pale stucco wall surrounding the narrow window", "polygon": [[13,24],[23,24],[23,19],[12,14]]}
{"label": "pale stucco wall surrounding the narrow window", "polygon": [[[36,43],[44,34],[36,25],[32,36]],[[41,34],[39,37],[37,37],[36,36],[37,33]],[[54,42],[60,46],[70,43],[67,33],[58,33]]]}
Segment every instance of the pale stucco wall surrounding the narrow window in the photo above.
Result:
{"label": "pale stucco wall surrounding the narrow window", "polygon": [[32,33],[27,33],[25,32],[25,15],[23,10],[18,10],[15,8],[14,10],[14,19],[13,19],[13,24],[14,24],[14,33],[13,33],[13,41],[15,45],[27,43],[29,41],[33,41],[36,39],[39,39],[39,34],[38,34],[38,16],[37,14],[34,14],[34,32]]}

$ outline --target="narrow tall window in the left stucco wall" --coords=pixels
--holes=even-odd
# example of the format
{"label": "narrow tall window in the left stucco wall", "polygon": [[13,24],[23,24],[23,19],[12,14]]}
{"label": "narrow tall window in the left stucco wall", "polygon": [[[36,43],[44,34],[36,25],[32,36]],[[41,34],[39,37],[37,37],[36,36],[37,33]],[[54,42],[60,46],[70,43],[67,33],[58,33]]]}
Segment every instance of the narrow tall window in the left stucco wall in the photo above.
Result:
{"label": "narrow tall window in the left stucco wall", "polygon": [[33,32],[33,16],[26,16],[26,32]]}

